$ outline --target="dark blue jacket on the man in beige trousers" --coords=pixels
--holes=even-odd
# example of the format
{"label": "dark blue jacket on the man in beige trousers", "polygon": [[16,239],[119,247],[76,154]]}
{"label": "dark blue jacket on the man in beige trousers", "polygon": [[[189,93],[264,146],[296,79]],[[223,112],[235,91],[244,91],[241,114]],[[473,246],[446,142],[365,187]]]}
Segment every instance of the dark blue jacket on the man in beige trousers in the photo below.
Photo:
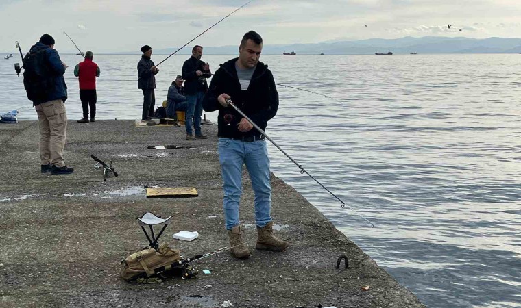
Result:
{"label": "dark blue jacket on the man in beige trousers", "polygon": [[39,105],[40,103],[45,103],[47,101],[54,101],[55,99],[61,99],[65,102],[67,99],[67,86],[65,84],[65,79],[63,78],[65,66],[62,64],[62,60],[60,60],[58,51],[56,51],[56,49],[51,49],[49,46],[40,42],[37,42],[33,47],[31,47],[31,51],[36,51],[36,49],[45,49],[47,60],[49,61],[49,68],[54,78],[54,89],[49,93],[45,101],[33,102],[34,105]]}

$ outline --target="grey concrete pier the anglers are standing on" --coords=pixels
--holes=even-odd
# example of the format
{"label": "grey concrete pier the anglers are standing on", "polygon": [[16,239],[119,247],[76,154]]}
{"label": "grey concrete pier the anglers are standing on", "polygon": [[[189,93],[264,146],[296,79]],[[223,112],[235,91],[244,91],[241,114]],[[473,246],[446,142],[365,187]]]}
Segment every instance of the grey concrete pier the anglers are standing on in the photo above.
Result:
{"label": "grey concrete pier the anglers are standing on", "polygon": [[[120,261],[148,244],[136,218],[173,216],[160,242],[186,257],[228,246],[223,225],[217,127],[186,141],[183,127],[135,127],[130,120],[69,122],[71,175],[40,173],[38,123],[0,125],[0,307],[424,307],[335,229],[291,186],[272,176],[272,216],[287,251],[229,252],[195,264],[194,279],[131,284]],[[149,145],[189,146],[147,149]],[[103,181],[94,154],[119,177]],[[195,187],[195,198],[145,198],[145,186]],[[253,192],[243,174],[241,221],[254,248]],[[198,231],[193,242],[178,231]],[[348,269],[336,269],[346,255]],[[343,263],[342,263],[343,265]],[[202,270],[211,274],[203,274]],[[369,285],[369,290],[361,287]]]}

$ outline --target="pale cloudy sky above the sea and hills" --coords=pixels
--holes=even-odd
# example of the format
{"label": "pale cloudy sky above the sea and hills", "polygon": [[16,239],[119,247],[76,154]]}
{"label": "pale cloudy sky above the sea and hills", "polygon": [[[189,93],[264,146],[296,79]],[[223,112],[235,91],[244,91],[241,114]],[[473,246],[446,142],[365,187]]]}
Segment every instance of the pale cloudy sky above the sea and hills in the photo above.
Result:
{"label": "pale cloudy sky above the sea and hills", "polygon": [[[0,51],[14,52],[16,40],[28,49],[47,32],[56,49],[72,52],[64,31],[80,48],[98,52],[138,53],[143,44],[180,47],[246,2],[0,0]],[[250,29],[265,44],[403,36],[521,38],[520,16],[521,0],[254,0],[195,43],[238,44]]]}

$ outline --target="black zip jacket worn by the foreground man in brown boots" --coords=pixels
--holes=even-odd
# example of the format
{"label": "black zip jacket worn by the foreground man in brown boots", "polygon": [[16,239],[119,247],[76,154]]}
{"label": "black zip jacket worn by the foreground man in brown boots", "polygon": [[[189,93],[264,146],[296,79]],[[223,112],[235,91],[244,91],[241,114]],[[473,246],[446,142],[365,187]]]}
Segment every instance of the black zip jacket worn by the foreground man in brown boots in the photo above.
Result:
{"label": "black zip jacket worn by the foreground man in brown boots", "polygon": [[215,72],[210,88],[204,96],[203,108],[206,112],[219,110],[217,136],[223,138],[260,137],[260,132],[255,127],[245,133],[239,131],[237,125],[239,125],[243,116],[232,107],[223,107],[217,101],[217,97],[223,93],[230,95],[234,105],[263,130],[266,129],[268,120],[277,114],[278,92],[268,66],[263,62],[257,63],[250,80],[250,86],[245,91],[241,90],[239,77],[237,77],[237,70],[235,69],[237,60],[238,58],[235,58],[221,64]]}

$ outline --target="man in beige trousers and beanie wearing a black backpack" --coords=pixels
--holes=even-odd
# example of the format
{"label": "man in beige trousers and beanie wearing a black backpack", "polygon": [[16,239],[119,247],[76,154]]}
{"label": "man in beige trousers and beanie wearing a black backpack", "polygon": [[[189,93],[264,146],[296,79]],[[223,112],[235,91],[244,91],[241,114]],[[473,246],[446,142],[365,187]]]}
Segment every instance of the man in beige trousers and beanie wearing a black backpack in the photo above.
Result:
{"label": "man in beige trousers and beanie wearing a black backpack", "polygon": [[[58,51],[54,49],[54,38],[49,34],[44,34],[40,41],[31,47],[29,55],[41,59],[38,65],[42,67],[34,69],[44,72],[43,76],[36,77],[38,80],[27,81],[26,79],[29,78],[29,64],[27,64],[24,73],[27,97],[33,101],[38,114],[38,125],[40,125],[41,172],[51,172],[53,175],[72,173],[74,168],[65,166],[63,158],[67,130],[64,104],[67,99],[67,86],[63,75],[68,66],[60,60]],[[41,90],[36,88],[36,92],[39,93],[35,94],[36,84],[46,84],[47,87]]]}

